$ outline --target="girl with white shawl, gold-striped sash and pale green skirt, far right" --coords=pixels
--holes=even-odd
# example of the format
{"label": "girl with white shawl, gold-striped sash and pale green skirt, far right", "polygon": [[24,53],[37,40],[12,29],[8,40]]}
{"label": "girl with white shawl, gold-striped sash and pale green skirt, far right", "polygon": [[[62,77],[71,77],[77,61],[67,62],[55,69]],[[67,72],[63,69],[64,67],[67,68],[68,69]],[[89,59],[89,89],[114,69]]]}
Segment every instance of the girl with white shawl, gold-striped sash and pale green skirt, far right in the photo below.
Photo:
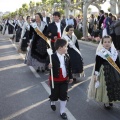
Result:
{"label": "girl with white shawl, gold-striped sash and pale green skirt, far right", "polygon": [[[120,62],[118,52],[111,44],[111,37],[104,36],[101,43],[101,49],[96,52],[96,63],[88,87],[88,99],[102,102],[106,109],[110,109],[113,102],[120,101],[120,72],[118,72]],[[116,65],[119,70],[114,68]]]}

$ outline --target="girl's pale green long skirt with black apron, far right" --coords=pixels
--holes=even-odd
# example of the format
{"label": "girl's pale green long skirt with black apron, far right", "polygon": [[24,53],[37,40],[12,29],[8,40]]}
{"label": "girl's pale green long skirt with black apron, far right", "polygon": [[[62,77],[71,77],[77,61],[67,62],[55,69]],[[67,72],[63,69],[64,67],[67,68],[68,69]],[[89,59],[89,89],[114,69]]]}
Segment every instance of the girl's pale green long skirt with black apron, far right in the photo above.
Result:
{"label": "girl's pale green long skirt with black apron, far right", "polygon": [[120,74],[111,65],[101,66],[98,80],[100,85],[96,88],[96,101],[103,103],[120,101]]}

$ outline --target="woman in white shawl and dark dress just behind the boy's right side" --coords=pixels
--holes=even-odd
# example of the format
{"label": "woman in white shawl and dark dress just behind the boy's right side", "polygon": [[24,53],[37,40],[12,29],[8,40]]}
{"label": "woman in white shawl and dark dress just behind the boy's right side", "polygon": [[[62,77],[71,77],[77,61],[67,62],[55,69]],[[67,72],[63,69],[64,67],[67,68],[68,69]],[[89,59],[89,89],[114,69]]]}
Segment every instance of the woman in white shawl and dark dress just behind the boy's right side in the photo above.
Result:
{"label": "woman in white shawl and dark dress just behind the boy's right side", "polygon": [[68,42],[68,54],[70,55],[71,67],[74,80],[83,75],[83,59],[79,50],[77,37],[73,34],[74,26],[65,28],[62,38]]}

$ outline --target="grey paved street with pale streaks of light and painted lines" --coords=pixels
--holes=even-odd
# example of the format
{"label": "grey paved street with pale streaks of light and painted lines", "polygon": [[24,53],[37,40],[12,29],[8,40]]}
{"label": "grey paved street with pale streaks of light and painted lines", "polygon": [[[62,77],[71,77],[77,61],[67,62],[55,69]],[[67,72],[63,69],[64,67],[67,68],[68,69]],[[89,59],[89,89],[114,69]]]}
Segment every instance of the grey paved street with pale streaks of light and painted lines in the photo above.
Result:
{"label": "grey paved street with pale streaks of light and painted lines", "polygon": [[[120,120],[120,103],[105,110],[102,103],[86,102],[96,45],[80,42],[86,77],[69,85],[68,120]],[[9,37],[0,35],[0,120],[61,120],[50,108],[48,72],[36,73],[24,64]]]}

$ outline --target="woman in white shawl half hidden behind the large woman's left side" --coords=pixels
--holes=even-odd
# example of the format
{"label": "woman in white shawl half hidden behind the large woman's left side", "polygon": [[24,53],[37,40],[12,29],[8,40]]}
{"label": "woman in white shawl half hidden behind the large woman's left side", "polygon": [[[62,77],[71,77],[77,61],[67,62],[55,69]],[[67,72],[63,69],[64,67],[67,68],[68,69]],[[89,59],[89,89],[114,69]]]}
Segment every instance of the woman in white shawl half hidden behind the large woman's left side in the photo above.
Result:
{"label": "woman in white shawl half hidden behind the large woman's left side", "polygon": [[29,31],[30,31],[30,16],[27,16],[26,22],[22,27],[21,39],[19,42],[18,52],[26,52],[29,43]]}

